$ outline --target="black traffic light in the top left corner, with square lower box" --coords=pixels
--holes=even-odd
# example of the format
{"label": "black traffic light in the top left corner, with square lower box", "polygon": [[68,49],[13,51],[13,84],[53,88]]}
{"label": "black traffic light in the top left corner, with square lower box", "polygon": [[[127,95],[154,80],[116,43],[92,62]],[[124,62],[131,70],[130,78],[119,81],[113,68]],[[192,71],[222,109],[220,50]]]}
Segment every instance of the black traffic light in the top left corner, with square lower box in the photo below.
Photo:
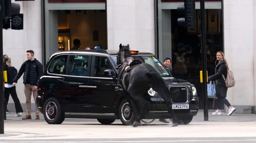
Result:
{"label": "black traffic light in the top left corner, with square lower box", "polygon": [[13,3],[12,0],[4,0],[3,9],[3,29],[23,29],[23,14],[20,14],[20,4]]}

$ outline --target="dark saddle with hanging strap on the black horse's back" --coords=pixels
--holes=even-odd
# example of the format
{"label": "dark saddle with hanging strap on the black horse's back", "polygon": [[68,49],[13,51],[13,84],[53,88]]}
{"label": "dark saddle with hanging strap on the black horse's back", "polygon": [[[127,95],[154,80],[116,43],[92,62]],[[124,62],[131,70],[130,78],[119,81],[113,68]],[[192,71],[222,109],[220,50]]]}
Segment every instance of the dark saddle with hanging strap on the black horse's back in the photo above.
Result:
{"label": "dark saddle with hanging strap on the black horse's back", "polygon": [[[118,71],[118,82],[122,86],[122,78],[125,72],[130,72],[136,65],[140,65],[142,61],[134,59],[130,64],[124,63]],[[123,86],[122,86],[123,87]]]}

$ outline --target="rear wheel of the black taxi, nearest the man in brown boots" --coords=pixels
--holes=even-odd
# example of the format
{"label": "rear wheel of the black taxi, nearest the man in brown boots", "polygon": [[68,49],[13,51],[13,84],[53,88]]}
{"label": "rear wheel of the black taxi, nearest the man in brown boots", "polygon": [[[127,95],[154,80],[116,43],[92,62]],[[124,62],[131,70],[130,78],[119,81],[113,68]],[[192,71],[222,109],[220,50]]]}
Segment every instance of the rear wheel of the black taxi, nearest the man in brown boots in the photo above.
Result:
{"label": "rear wheel of the black taxi, nearest the man in brown boots", "polygon": [[44,119],[48,124],[61,124],[64,121],[62,106],[56,98],[48,98],[44,103]]}

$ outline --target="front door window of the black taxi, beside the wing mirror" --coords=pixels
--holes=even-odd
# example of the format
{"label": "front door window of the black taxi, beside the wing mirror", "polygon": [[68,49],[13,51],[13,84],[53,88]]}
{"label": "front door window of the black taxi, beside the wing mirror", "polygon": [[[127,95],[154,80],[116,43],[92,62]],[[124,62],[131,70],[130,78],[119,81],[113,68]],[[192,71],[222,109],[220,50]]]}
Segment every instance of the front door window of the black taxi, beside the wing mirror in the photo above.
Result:
{"label": "front door window of the black taxi, beside the wing mirror", "polygon": [[110,61],[106,57],[95,57],[94,77],[106,77],[104,71],[113,69]]}

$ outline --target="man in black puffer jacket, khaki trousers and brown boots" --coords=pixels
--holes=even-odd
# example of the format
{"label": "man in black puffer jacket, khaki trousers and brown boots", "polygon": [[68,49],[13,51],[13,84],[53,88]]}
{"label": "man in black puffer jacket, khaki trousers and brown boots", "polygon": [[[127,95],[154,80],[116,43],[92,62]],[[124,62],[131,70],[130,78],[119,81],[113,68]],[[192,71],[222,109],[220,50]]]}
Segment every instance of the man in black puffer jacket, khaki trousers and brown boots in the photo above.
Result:
{"label": "man in black puffer jacket, khaki trousers and brown boots", "polygon": [[[43,66],[42,64],[34,58],[34,51],[28,50],[27,52],[27,61],[25,61],[13,80],[13,85],[15,86],[18,79],[23,75],[23,84],[24,84],[24,92],[26,96],[26,108],[27,114],[22,119],[31,119],[31,94],[33,92],[34,101],[36,104],[36,96],[37,96],[37,89],[38,89],[38,80],[42,76],[43,73]],[[39,110],[36,105],[36,119],[39,118]]]}

